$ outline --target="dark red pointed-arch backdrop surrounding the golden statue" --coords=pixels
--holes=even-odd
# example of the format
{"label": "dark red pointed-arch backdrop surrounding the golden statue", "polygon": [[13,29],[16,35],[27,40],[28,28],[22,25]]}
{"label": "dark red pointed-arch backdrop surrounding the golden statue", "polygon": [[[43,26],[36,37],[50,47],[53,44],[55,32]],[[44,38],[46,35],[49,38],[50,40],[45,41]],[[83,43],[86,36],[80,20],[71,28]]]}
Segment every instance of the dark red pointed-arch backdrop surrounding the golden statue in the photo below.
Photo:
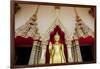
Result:
{"label": "dark red pointed-arch backdrop surrounding the golden statue", "polygon": [[[50,33],[50,39],[49,39],[48,43],[49,42],[51,42],[52,44],[55,43],[54,36],[55,36],[56,33],[58,33],[60,35],[59,42],[61,44],[64,44],[64,54],[65,54],[65,58],[66,58],[66,62],[67,62],[67,47],[66,47],[66,44],[65,44],[65,34],[58,25]],[[48,46],[49,46],[49,44],[48,44]],[[45,60],[46,64],[49,64],[49,60],[50,60],[50,56],[49,56],[50,54],[49,54],[48,46],[47,46],[47,49],[46,49],[46,60]]]}

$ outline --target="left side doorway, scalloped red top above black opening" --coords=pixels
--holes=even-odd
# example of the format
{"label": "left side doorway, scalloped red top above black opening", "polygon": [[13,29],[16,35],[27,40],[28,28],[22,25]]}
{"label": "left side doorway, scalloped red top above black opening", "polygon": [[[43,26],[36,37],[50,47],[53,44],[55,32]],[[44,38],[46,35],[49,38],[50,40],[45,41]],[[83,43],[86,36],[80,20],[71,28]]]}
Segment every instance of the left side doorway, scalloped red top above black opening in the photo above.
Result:
{"label": "left side doorway, scalloped red top above black opening", "polygon": [[33,39],[17,36],[15,38],[16,65],[27,65],[29,62]]}

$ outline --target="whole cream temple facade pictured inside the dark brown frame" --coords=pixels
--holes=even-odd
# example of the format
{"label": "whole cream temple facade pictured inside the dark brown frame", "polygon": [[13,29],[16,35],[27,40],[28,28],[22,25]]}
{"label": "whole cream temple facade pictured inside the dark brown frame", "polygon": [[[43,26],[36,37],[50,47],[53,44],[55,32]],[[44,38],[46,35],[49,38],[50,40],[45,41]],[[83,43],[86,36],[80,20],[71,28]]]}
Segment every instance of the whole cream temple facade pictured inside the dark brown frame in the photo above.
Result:
{"label": "whole cream temple facade pictured inside the dark brown frame", "polygon": [[[16,65],[50,64],[50,59],[57,56],[50,52],[60,51],[60,45],[63,46],[60,53],[64,54],[58,55],[59,60],[64,56],[65,63],[94,60],[95,19],[89,14],[91,8],[18,5],[20,9],[15,14]],[[59,35],[58,47],[55,32]]]}

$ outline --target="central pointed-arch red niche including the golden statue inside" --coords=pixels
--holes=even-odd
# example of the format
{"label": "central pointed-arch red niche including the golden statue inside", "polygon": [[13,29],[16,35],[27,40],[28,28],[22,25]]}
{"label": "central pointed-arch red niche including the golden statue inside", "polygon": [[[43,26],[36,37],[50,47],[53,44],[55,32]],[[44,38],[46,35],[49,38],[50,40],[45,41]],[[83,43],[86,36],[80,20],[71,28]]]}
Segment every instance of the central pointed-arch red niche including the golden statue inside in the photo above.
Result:
{"label": "central pointed-arch red niche including the golden statue inside", "polygon": [[50,33],[50,39],[46,50],[46,64],[66,63],[67,47],[65,34],[57,25]]}

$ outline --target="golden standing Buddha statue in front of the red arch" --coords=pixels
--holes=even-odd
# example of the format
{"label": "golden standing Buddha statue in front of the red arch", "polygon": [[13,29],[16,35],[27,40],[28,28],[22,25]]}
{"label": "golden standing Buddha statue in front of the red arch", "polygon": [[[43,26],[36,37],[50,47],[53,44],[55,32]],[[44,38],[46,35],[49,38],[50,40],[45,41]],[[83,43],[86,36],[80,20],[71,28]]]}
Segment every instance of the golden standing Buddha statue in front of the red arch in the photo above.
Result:
{"label": "golden standing Buddha statue in front of the red arch", "polygon": [[56,33],[54,35],[54,44],[49,42],[50,64],[66,63],[64,45],[59,42],[60,39],[60,35]]}

